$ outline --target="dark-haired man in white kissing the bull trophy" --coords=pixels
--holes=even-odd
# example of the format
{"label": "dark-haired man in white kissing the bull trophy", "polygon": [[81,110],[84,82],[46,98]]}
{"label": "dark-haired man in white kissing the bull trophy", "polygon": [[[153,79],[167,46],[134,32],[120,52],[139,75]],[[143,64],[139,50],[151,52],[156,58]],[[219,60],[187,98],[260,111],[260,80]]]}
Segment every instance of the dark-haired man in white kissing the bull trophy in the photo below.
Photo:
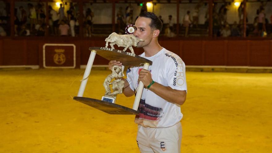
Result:
{"label": "dark-haired man in white kissing the bull trophy", "polygon": [[[185,64],[179,56],[164,49],[158,43],[162,22],[151,12],[142,12],[135,22],[134,36],[143,39],[137,47],[142,47],[141,57],[153,62],[149,70],[132,67],[127,70],[127,79],[123,93],[133,96],[142,81],[142,97],[139,115],[135,117],[138,124],[137,143],[142,153],[180,152],[182,113],[180,105],[186,99]],[[110,61],[112,66],[121,66],[119,61]]]}

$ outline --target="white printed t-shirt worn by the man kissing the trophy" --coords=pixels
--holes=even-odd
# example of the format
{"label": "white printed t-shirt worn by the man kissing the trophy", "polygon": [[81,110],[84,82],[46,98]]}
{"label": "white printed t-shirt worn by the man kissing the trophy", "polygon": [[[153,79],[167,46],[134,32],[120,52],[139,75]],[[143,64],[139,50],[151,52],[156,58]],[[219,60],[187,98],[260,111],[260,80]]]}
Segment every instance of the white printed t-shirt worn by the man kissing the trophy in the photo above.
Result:
{"label": "white printed t-shirt worn by the man kissing the trophy", "polygon": [[[153,62],[148,70],[155,82],[172,89],[187,91],[185,64],[178,55],[163,48],[152,57],[146,57],[145,53],[139,56]],[[127,70],[127,81],[133,91],[138,87],[139,71],[142,68],[143,66],[130,67]],[[145,88],[138,111],[140,114],[136,115],[135,123],[145,127],[170,127],[183,116],[180,105],[170,103]]]}

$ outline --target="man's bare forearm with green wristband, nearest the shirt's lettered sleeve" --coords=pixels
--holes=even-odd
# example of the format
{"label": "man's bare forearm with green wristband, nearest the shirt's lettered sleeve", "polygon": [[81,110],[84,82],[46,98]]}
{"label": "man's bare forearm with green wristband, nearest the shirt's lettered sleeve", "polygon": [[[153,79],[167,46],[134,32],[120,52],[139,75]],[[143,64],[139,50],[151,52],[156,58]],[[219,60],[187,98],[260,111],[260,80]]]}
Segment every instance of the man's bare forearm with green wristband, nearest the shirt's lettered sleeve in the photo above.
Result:
{"label": "man's bare forearm with green wristband, nearest the shirt's lettered sleeve", "polygon": [[149,88],[149,90],[171,103],[182,105],[186,100],[186,91],[175,90],[156,82]]}

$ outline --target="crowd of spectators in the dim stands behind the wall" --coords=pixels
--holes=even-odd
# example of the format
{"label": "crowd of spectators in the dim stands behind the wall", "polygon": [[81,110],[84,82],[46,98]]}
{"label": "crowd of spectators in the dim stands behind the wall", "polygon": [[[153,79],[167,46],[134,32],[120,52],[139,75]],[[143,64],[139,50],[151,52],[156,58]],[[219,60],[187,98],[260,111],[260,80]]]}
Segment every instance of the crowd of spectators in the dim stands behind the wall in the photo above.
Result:
{"label": "crowd of spectators in the dim stands behind the wall", "polygon": [[[260,5],[256,10],[256,16],[253,24],[246,24],[246,36],[267,36],[272,33],[272,15],[266,16],[265,9],[267,2],[258,2]],[[172,19],[172,15],[167,15],[168,20],[163,21],[163,17],[159,15],[159,18],[164,24],[163,35],[167,37],[175,37],[182,35],[185,37],[190,36],[190,32],[203,28],[199,24],[199,12],[200,8],[205,5],[203,1],[200,1],[195,5],[193,10],[187,10],[186,14],[181,17],[181,26],[179,34],[176,33],[175,21]],[[244,35],[244,4],[240,3],[237,8],[238,21],[228,23],[227,12],[231,2],[214,3],[214,9],[212,13],[213,29],[212,33],[214,37],[239,37]],[[26,7],[26,6],[25,6]],[[15,21],[14,21],[14,33],[15,36],[45,36],[46,29],[46,15],[49,15],[48,30],[49,36],[79,36],[79,6],[77,3],[61,2],[58,9],[53,9],[53,6],[49,5],[49,12],[45,12],[45,2],[32,3],[29,2],[27,7],[24,6],[15,7]],[[65,7],[69,7],[69,9]],[[219,8],[219,9],[216,9]],[[137,17],[133,16],[133,6],[128,4],[123,11],[120,7],[117,10],[117,27],[116,31],[119,34],[125,33],[125,27],[130,24],[134,24]],[[7,36],[8,29],[5,25],[9,22],[9,6],[0,7],[0,36]],[[147,11],[146,5],[142,6],[141,11]],[[247,10],[248,11],[248,10]],[[192,12],[192,13],[191,13]],[[165,16],[164,16],[165,17]],[[85,37],[91,37],[93,33],[93,18],[94,12],[91,8],[84,7],[83,10],[83,34]],[[209,30],[209,10],[207,8],[205,15],[204,28],[206,34]],[[270,20],[270,23],[269,23]],[[248,18],[246,18],[248,23]],[[200,34],[201,35],[201,34]]]}

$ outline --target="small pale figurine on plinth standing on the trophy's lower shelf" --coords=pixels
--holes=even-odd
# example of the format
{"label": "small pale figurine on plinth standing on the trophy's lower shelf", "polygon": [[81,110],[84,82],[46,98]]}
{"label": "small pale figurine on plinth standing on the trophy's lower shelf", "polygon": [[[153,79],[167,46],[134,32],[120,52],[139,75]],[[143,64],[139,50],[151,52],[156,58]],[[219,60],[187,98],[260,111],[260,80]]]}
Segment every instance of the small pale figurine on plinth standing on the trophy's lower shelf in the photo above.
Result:
{"label": "small pale figurine on plinth standing on the trophy's lower shelf", "polygon": [[[125,82],[121,80],[121,77],[124,77],[124,73],[122,72],[121,66],[113,66],[112,74],[109,74],[105,79],[103,85],[106,90],[105,95],[102,97],[102,100],[114,103],[117,94],[121,94],[123,91],[123,87],[125,86]],[[115,79],[112,81],[112,79]],[[112,84],[113,93],[111,93],[111,89],[109,85]]]}

